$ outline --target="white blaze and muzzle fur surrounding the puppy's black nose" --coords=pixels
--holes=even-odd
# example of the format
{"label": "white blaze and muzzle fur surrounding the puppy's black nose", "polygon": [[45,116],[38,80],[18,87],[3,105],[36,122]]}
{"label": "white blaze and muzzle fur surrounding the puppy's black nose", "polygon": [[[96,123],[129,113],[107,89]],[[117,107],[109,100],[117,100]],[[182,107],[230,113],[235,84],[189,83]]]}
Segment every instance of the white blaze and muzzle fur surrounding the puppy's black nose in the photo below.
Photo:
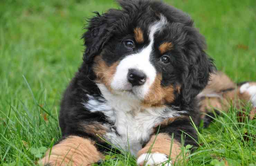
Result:
{"label": "white blaze and muzzle fur surrounding the puppy's black nose", "polygon": [[[154,34],[157,31],[161,31],[164,25],[167,24],[167,20],[164,16],[161,16],[161,20],[155,22],[149,27],[149,45],[140,50],[139,53],[131,54],[122,59],[117,66],[116,73],[111,82],[111,89],[114,91],[132,91],[139,99],[144,99],[144,96],[148,93],[150,86],[153,84],[156,78],[156,69],[150,63],[150,54],[153,51]],[[141,86],[133,86],[127,80],[127,74],[129,69],[137,69],[146,74],[146,83]]]}

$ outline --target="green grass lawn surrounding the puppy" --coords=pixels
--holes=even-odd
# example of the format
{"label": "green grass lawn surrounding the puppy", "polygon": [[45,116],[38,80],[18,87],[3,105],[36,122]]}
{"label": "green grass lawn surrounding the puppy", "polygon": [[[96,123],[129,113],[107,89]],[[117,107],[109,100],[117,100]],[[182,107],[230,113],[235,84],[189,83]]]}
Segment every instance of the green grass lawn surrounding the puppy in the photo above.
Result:
{"label": "green grass lawn surrounding the puppy", "polygon": [[[194,18],[219,70],[236,82],[256,80],[256,1],[166,2]],[[57,112],[81,63],[84,20],[111,7],[112,0],[0,1],[0,165],[35,165],[61,137]],[[188,165],[256,164],[256,120],[238,123],[238,111],[199,129]],[[131,156],[111,156],[103,165],[135,164]]]}

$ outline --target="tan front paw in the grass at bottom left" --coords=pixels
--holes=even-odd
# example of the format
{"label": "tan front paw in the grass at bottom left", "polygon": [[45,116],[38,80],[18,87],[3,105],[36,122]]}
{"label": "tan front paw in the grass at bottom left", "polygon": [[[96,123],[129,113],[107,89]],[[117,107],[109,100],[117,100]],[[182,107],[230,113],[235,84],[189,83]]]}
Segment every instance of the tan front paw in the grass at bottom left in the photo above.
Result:
{"label": "tan front paw in the grass at bottom left", "polygon": [[46,152],[45,157],[39,163],[52,165],[89,165],[98,162],[104,156],[96,149],[94,142],[77,136],[70,136],[51,150]]}

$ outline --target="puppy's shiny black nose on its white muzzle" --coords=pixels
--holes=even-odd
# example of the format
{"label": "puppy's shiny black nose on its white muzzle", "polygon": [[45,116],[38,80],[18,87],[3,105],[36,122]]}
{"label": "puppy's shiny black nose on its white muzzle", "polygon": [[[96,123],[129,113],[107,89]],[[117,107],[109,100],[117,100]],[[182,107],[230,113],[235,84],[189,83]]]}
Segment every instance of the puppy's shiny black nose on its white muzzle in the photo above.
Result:
{"label": "puppy's shiny black nose on its white muzzle", "polygon": [[132,86],[139,86],[146,82],[147,76],[142,71],[131,68],[128,71],[127,79]]}

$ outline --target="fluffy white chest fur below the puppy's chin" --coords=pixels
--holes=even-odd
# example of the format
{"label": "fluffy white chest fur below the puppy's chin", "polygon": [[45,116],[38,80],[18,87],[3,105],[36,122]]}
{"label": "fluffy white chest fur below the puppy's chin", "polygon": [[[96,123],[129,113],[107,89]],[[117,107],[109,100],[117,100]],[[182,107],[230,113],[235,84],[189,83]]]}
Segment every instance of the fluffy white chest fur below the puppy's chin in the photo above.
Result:
{"label": "fluffy white chest fur below the puppy's chin", "polygon": [[156,124],[166,118],[180,116],[177,111],[166,107],[143,108],[130,93],[115,95],[104,85],[98,84],[98,87],[104,99],[97,100],[88,95],[89,100],[84,107],[91,112],[103,112],[116,129],[108,132],[105,138],[117,148],[129,150],[132,155],[136,155],[142,143],[149,140]]}

